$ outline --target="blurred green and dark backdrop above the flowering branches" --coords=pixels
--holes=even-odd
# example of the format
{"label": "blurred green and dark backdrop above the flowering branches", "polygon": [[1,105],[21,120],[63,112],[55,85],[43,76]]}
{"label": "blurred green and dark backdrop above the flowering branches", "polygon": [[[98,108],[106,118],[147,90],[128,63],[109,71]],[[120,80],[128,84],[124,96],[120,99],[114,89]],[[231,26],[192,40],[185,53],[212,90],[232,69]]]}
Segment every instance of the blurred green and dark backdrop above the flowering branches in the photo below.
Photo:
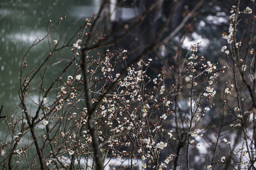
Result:
{"label": "blurred green and dark backdrop above the flowering branches", "polygon": [[[152,67],[152,71],[156,74],[164,65],[163,62],[172,64],[172,57],[187,31],[188,36],[184,38],[182,45],[184,51],[188,51],[197,41],[202,41],[199,48],[200,56],[210,58],[211,62],[225,61],[225,54],[220,51],[225,44],[221,37],[222,32],[228,30],[227,22],[231,4],[223,1],[210,1],[203,9],[198,8],[199,13],[195,18],[190,11],[199,1],[190,0],[111,0],[106,2],[77,0],[75,3],[66,0],[2,0],[0,3],[0,103],[5,105],[8,112],[12,112],[13,107],[19,104],[17,90],[23,55],[37,38],[42,39],[47,34],[47,22],[52,20],[51,29],[58,22],[58,18],[67,15],[67,18],[51,34],[50,38],[53,41],[62,33],[66,35],[74,33],[85,23],[86,18],[97,14],[103,5],[101,9],[103,12],[100,13],[100,20],[93,34],[103,26],[100,30],[100,33],[106,34],[103,43],[104,45],[108,42],[114,43],[115,46],[111,47],[113,50],[120,48],[131,52],[140,47],[136,50],[136,54],[139,54],[148,49],[143,55],[154,59],[153,65],[157,67]],[[154,8],[150,9],[152,6]],[[168,18],[170,14],[171,17]],[[184,26],[171,35],[187,15],[191,16]],[[169,20],[168,25],[163,25],[166,20]],[[134,23],[137,25],[134,26]],[[161,37],[157,37],[162,29],[164,33]],[[170,35],[169,40],[161,42]],[[156,38],[159,38],[156,43],[160,42],[160,44],[150,48]],[[48,43],[44,40],[39,46],[32,48],[28,61],[34,62],[42,53],[47,55],[48,49]],[[136,54],[129,56],[128,60],[135,58]],[[33,65],[37,64],[39,63]],[[32,68],[33,65],[29,67]]]}

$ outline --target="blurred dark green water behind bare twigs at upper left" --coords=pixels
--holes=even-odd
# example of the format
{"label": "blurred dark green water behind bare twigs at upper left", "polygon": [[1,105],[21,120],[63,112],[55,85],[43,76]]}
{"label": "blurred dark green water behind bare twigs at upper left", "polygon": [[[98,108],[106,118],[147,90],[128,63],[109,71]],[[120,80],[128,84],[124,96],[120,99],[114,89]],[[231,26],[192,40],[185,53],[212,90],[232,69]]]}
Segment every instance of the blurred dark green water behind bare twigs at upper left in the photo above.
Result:
{"label": "blurred dark green water behind bare twigs at upper left", "polygon": [[[61,24],[50,35],[52,43],[64,32],[75,33],[86,18],[97,13],[100,4],[98,1],[88,0],[1,0],[0,4],[0,105],[4,105],[1,115],[4,116],[10,115],[20,103],[18,88],[20,87],[21,62],[33,42],[37,38],[42,39],[47,34],[47,22],[52,20],[49,27],[51,29],[58,22],[58,18],[67,15],[67,18],[61,21]],[[47,40],[33,47],[27,55],[28,67],[25,75],[34,66],[38,67],[42,64],[43,59],[37,61],[37,58],[40,56],[45,58],[49,52]],[[52,59],[52,62],[57,61],[56,57]],[[63,69],[56,67],[49,69],[45,84],[52,83]],[[38,100],[38,96],[34,95],[32,100]],[[16,111],[20,113],[21,109]],[[1,121],[0,140],[5,138],[5,132],[6,125],[4,121]]]}

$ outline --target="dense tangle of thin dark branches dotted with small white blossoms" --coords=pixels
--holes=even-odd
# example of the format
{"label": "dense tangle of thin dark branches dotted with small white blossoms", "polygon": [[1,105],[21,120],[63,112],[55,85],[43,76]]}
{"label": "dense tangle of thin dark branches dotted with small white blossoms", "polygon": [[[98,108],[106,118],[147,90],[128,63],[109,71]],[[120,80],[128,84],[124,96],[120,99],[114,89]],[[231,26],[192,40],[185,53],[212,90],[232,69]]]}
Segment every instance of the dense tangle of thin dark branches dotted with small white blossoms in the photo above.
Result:
{"label": "dense tangle of thin dark branches dotted with small white blossoms", "polygon": [[[29,74],[30,80],[28,75],[24,79],[20,91],[20,97],[23,98],[19,105],[22,112],[19,114],[15,111],[12,116],[5,119],[11,137],[10,141],[3,140],[1,143],[0,162],[3,161],[0,166],[5,164],[3,167],[7,167],[7,160],[13,155],[12,162],[16,162],[17,168],[19,168],[18,166],[25,160],[25,157],[29,156],[27,153],[31,146],[37,142],[28,135],[25,136],[28,134],[27,130],[31,130],[32,133],[36,132],[34,136],[37,136],[37,139],[43,143],[42,145],[37,143],[35,146],[41,147],[38,150],[42,152],[41,158],[43,158],[45,169],[95,169],[96,165],[93,160],[97,160],[95,151],[98,148],[102,162],[105,161],[104,164],[107,162],[106,159],[117,159],[121,162],[125,159],[137,159],[139,160],[138,165],[131,161],[129,166],[140,166],[142,170],[146,168],[161,170],[170,169],[173,165],[178,165],[183,161],[182,168],[187,158],[186,167],[188,168],[188,159],[191,163],[192,157],[189,153],[193,153],[194,149],[200,148],[202,145],[203,147],[207,146],[207,148],[204,147],[205,153],[207,152],[208,155],[205,164],[207,169],[217,169],[219,165],[226,164],[237,164],[237,169],[246,169],[246,166],[255,169],[255,139],[253,139],[255,135],[252,127],[255,124],[255,115],[253,114],[254,110],[251,109],[255,108],[251,106],[254,98],[247,97],[250,96],[250,93],[245,93],[247,96],[239,93],[239,90],[244,87],[255,89],[254,81],[251,81],[256,78],[253,72],[255,66],[253,66],[253,62],[249,64],[246,57],[240,57],[243,53],[242,47],[244,50],[247,43],[244,38],[236,39],[238,30],[235,29],[239,26],[238,22],[240,21],[238,10],[239,8],[236,6],[231,8],[228,33],[222,35],[227,44],[221,48],[221,51],[228,59],[234,59],[233,55],[239,56],[233,65],[237,66],[237,69],[234,69],[236,75],[234,77],[239,81],[241,77],[244,80],[250,79],[250,82],[234,81],[231,87],[223,87],[224,93],[218,94],[223,97],[223,113],[215,112],[214,103],[209,103],[209,99],[217,96],[219,90],[215,85],[217,78],[219,73],[224,72],[228,67],[218,67],[218,63],[206,61],[205,57],[200,56],[198,49],[201,42],[191,47],[191,53],[184,58],[181,64],[174,61],[174,65],[168,71],[163,68],[163,71],[157,73],[157,77],[151,78],[147,75],[150,65],[154,64],[151,58],[143,58],[133,63],[134,65],[129,65],[126,58],[131,53],[124,49],[119,49],[114,53],[108,49],[105,54],[98,53],[96,56],[87,53],[88,51],[85,49],[95,50],[93,48],[96,47],[96,41],[102,39],[101,36],[96,38],[92,47],[81,47],[86,44],[83,41],[89,35],[89,32],[86,33],[86,31],[90,26],[90,19],[95,16],[93,15],[90,19],[86,19],[86,23],[81,28],[85,28],[84,31],[78,33],[78,36],[76,33],[70,40],[71,44],[65,44],[67,47],[73,46],[72,57],[70,57],[72,59],[67,60],[70,63],[65,66],[66,68],[51,86],[44,83],[40,87],[40,85],[34,86],[36,83],[30,83],[33,78],[32,73],[36,72],[36,69]],[[252,20],[255,19],[253,13],[254,11],[250,7],[241,11],[242,15],[252,14],[248,15]],[[250,25],[250,22],[247,23]],[[59,42],[61,42],[61,38],[53,41],[54,50],[57,49]],[[80,49],[81,51],[79,51]],[[56,51],[51,51],[49,56]],[[237,54],[237,51],[241,54]],[[252,46],[244,51],[246,54],[255,54]],[[179,53],[177,51],[177,58]],[[79,58],[77,55],[82,55],[85,60],[81,60],[82,57]],[[254,55],[250,55],[249,60],[252,57]],[[255,58],[252,61],[255,61]],[[232,62],[229,64],[232,66]],[[25,66],[27,65],[24,61],[21,70],[25,69]],[[70,67],[72,69],[67,69]],[[179,69],[175,67],[179,67]],[[40,66],[39,70],[43,70],[41,68]],[[249,69],[250,71],[248,71]],[[247,71],[251,74],[249,77],[239,75],[239,73],[247,74]],[[183,83],[184,79],[186,83]],[[175,84],[171,85],[170,82],[175,82]],[[30,93],[26,89],[40,92],[40,96],[44,96],[39,104],[32,102],[33,105],[38,106],[36,116],[33,115],[34,113],[28,115],[29,109],[24,101],[30,99]],[[233,94],[233,89],[237,90],[236,94]],[[23,91],[25,92],[23,93]],[[239,98],[242,101],[238,101],[239,104],[232,102]],[[248,98],[249,100],[247,100]],[[185,104],[183,99],[186,100]],[[228,106],[233,103],[236,105]],[[23,119],[24,115],[26,120]],[[221,128],[213,125],[214,135],[210,136],[204,129],[208,126],[204,126],[203,123],[208,124],[208,120],[212,121],[218,117],[223,117],[223,122],[219,123]],[[229,120],[226,121],[226,119]],[[32,121],[30,125],[28,125],[29,121]],[[210,123],[212,123],[211,121]],[[239,133],[234,138],[246,141],[247,146],[244,144],[243,147],[240,147],[239,144],[243,142],[242,140],[230,138],[232,136],[229,135],[230,133],[238,131]],[[242,133],[242,137],[239,136],[240,133]],[[249,137],[250,135],[252,137]],[[25,141],[24,137],[28,138],[29,143],[22,146]],[[17,143],[17,145],[13,145],[13,143]],[[94,148],[94,146],[96,147]],[[173,148],[176,150],[172,150]],[[178,150],[177,148],[182,149]],[[230,153],[219,154],[218,149],[229,150]],[[186,151],[187,153],[185,153]],[[211,153],[213,157],[209,162]],[[31,169],[39,168],[35,164],[35,162],[39,162],[37,160],[39,155],[33,158],[31,164],[28,164]],[[86,165],[83,167],[80,163],[86,163]],[[125,169],[128,166],[124,165],[118,169],[122,168]]]}

